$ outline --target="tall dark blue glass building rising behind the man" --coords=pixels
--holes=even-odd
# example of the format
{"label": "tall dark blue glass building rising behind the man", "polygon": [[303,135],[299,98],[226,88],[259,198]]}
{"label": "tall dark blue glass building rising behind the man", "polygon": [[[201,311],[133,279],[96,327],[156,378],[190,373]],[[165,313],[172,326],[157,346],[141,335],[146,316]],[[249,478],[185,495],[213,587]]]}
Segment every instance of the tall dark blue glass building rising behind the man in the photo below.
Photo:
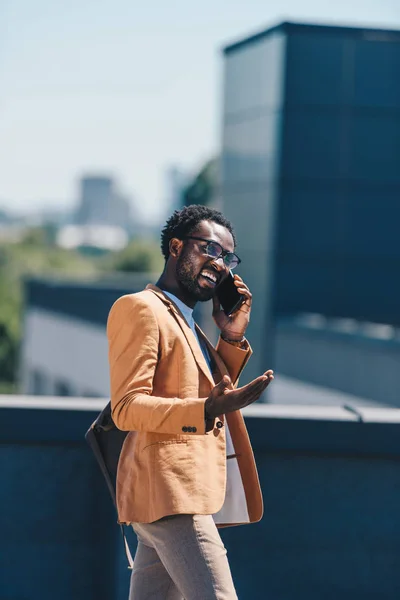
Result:
{"label": "tall dark blue glass building rising behind the man", "polygon": [[282,315],[399,325],[400,31],[282,23],[224,54],[223,210],[255,349]]}

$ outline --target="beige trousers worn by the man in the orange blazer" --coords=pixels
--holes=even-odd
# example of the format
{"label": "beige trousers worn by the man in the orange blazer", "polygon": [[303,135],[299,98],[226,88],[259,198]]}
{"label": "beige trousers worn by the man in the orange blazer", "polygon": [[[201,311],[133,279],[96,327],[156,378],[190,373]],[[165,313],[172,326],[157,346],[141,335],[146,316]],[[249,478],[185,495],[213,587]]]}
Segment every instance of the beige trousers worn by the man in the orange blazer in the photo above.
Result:
{"label": "beige trousers worn by the man in the orange blazer", "polygon": [[237,600],[211,515],[134,523],[138,547],[129,600]]}

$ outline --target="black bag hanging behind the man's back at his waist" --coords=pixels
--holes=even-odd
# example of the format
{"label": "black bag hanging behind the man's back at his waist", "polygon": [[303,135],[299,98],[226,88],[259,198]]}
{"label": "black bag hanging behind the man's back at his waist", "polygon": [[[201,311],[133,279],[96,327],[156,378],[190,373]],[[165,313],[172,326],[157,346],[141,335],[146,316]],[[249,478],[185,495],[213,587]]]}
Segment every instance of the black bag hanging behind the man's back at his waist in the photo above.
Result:
{"label": "black bag hanging behind the man's back at his waist", "polygon": [[[117,507],[116,487],[118,461],[122,445],[128,433],[128,431],[121,431],[116,427],[111,416],[111,402],[109,402],[85,434],[85,439],[92,449],[101,472],[104,475],[115,507]],[[132,555],[129,550],[122,523],[120,523],[120,527],[129,568],[132,569]]]}

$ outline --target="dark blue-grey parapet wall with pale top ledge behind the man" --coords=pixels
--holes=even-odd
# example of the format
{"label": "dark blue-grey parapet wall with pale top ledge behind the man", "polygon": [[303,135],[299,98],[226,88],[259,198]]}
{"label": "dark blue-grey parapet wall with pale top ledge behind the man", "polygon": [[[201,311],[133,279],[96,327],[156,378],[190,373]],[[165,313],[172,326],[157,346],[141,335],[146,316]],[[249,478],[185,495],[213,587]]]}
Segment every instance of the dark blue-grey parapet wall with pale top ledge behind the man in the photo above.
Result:
{"label": "dark blue-grey parapet wall with pale top ledge behind the man", "polygon": [[[126,600],[115,512],[83,440],[102,403],[44,400],[0,399],[0,598]],[[397,600],[400,411],[279,411],[246,413],[265,515],[222,532],[239,598]]]}

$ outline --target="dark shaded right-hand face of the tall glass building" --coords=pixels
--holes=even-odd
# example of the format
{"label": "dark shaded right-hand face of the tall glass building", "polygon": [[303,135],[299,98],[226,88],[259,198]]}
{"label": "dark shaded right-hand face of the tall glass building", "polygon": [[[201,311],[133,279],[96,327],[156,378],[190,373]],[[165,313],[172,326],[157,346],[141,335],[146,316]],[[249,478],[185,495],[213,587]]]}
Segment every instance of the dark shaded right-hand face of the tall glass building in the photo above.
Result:
{"label": "dark shaded right-hand face of the tall glass building", "polygon": [[399,324],[400,32],[323,29],[287,38],[274,312]]}

